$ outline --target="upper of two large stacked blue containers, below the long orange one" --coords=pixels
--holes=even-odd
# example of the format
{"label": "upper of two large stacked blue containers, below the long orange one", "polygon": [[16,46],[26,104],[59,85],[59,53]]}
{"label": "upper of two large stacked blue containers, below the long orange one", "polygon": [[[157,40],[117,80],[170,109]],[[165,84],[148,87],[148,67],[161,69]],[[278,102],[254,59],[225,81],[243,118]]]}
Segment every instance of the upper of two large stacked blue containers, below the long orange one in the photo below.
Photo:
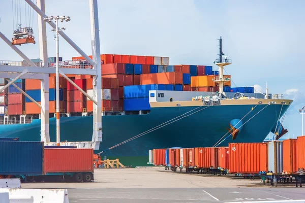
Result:
{"label": "upper of two large stacked blue containers, below the long orange one", "polygon": [[131,85],[124,87],[124,98],[148,97],[149,90],[165,90],[165,85]]}

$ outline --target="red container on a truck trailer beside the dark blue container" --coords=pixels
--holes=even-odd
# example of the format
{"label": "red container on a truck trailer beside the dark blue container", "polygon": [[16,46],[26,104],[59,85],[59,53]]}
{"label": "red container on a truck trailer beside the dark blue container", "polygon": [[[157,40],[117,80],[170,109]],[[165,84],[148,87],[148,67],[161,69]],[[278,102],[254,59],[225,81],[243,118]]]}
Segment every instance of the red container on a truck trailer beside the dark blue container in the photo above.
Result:
{"label": "red container on a truck trailer beside the dark blue container", "polygon": [[43,171],[93,172],[93,149],[44,149]]}

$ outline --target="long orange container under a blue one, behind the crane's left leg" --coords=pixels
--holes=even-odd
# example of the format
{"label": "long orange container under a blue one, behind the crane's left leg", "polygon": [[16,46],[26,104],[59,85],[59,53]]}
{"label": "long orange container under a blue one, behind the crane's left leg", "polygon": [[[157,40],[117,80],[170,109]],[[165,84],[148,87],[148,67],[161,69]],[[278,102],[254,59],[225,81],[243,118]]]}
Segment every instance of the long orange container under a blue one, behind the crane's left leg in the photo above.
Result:
{"label": "long orange container under a blue one, behind the crane's left leg", "polygon": [[[38,104],[41,104],[38,101]],[[56,101],[49,101],[49,113],[53,114],[56,112]],[[59,101],[59,112],[67,113],[67,101]],[[26,114],[40,114],[40,108],[34,102],[25,103],[25,113]]]}

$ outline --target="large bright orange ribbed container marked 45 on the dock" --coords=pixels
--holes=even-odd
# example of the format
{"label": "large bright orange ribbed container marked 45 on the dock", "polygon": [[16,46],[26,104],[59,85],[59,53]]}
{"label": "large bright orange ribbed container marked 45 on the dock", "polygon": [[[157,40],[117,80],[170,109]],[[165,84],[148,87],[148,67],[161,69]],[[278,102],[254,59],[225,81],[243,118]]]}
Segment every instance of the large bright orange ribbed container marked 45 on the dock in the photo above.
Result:
{"label": "large bright orange ribbed container marked 45 on the dock", "polygon": [[258,173],[260,171],[260,145],[266,144],[229,143],[230,173]]}

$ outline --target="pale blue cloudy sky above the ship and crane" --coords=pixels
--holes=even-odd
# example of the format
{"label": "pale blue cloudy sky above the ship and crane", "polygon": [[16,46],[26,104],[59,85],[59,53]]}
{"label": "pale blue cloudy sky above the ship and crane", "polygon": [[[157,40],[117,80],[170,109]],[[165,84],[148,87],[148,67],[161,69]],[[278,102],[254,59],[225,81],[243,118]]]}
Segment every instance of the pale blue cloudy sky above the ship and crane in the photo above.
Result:
{"label": "pale blue cloudy sky above the ship and crane", "polygon": [[[299,62],[305,45],[304,6],[303,1],[273,0],[99,0],[101,53],[168,56],[170,64],[213,65],[217,39],[222,36],[223,51],[232,58],[232,65],[226,67],[232,86],[264,88],[268,82],[271,93],[294,99],[283,124],[290,137],[299,136],[298,109],[305,106],[305,79]],[[1,8],[0,30],[11,39],[12,0],[2,1]],[[67,35],[91,54],[88,1],[46,1],[46,14],[70,16],[71,21],[60,26],[65,26]],[[21,17],[25,19],[24,12]],[[38,41],[36,13],[33,27]],[[50,29],[47,25],[48,55],[55,56]],[[0,47],[0,60],[21,60],[2,40]],[[39,57],[38,44],[20,49],[29,58]],[[62,38],[59,52],[64,60],[79,56]]]}

